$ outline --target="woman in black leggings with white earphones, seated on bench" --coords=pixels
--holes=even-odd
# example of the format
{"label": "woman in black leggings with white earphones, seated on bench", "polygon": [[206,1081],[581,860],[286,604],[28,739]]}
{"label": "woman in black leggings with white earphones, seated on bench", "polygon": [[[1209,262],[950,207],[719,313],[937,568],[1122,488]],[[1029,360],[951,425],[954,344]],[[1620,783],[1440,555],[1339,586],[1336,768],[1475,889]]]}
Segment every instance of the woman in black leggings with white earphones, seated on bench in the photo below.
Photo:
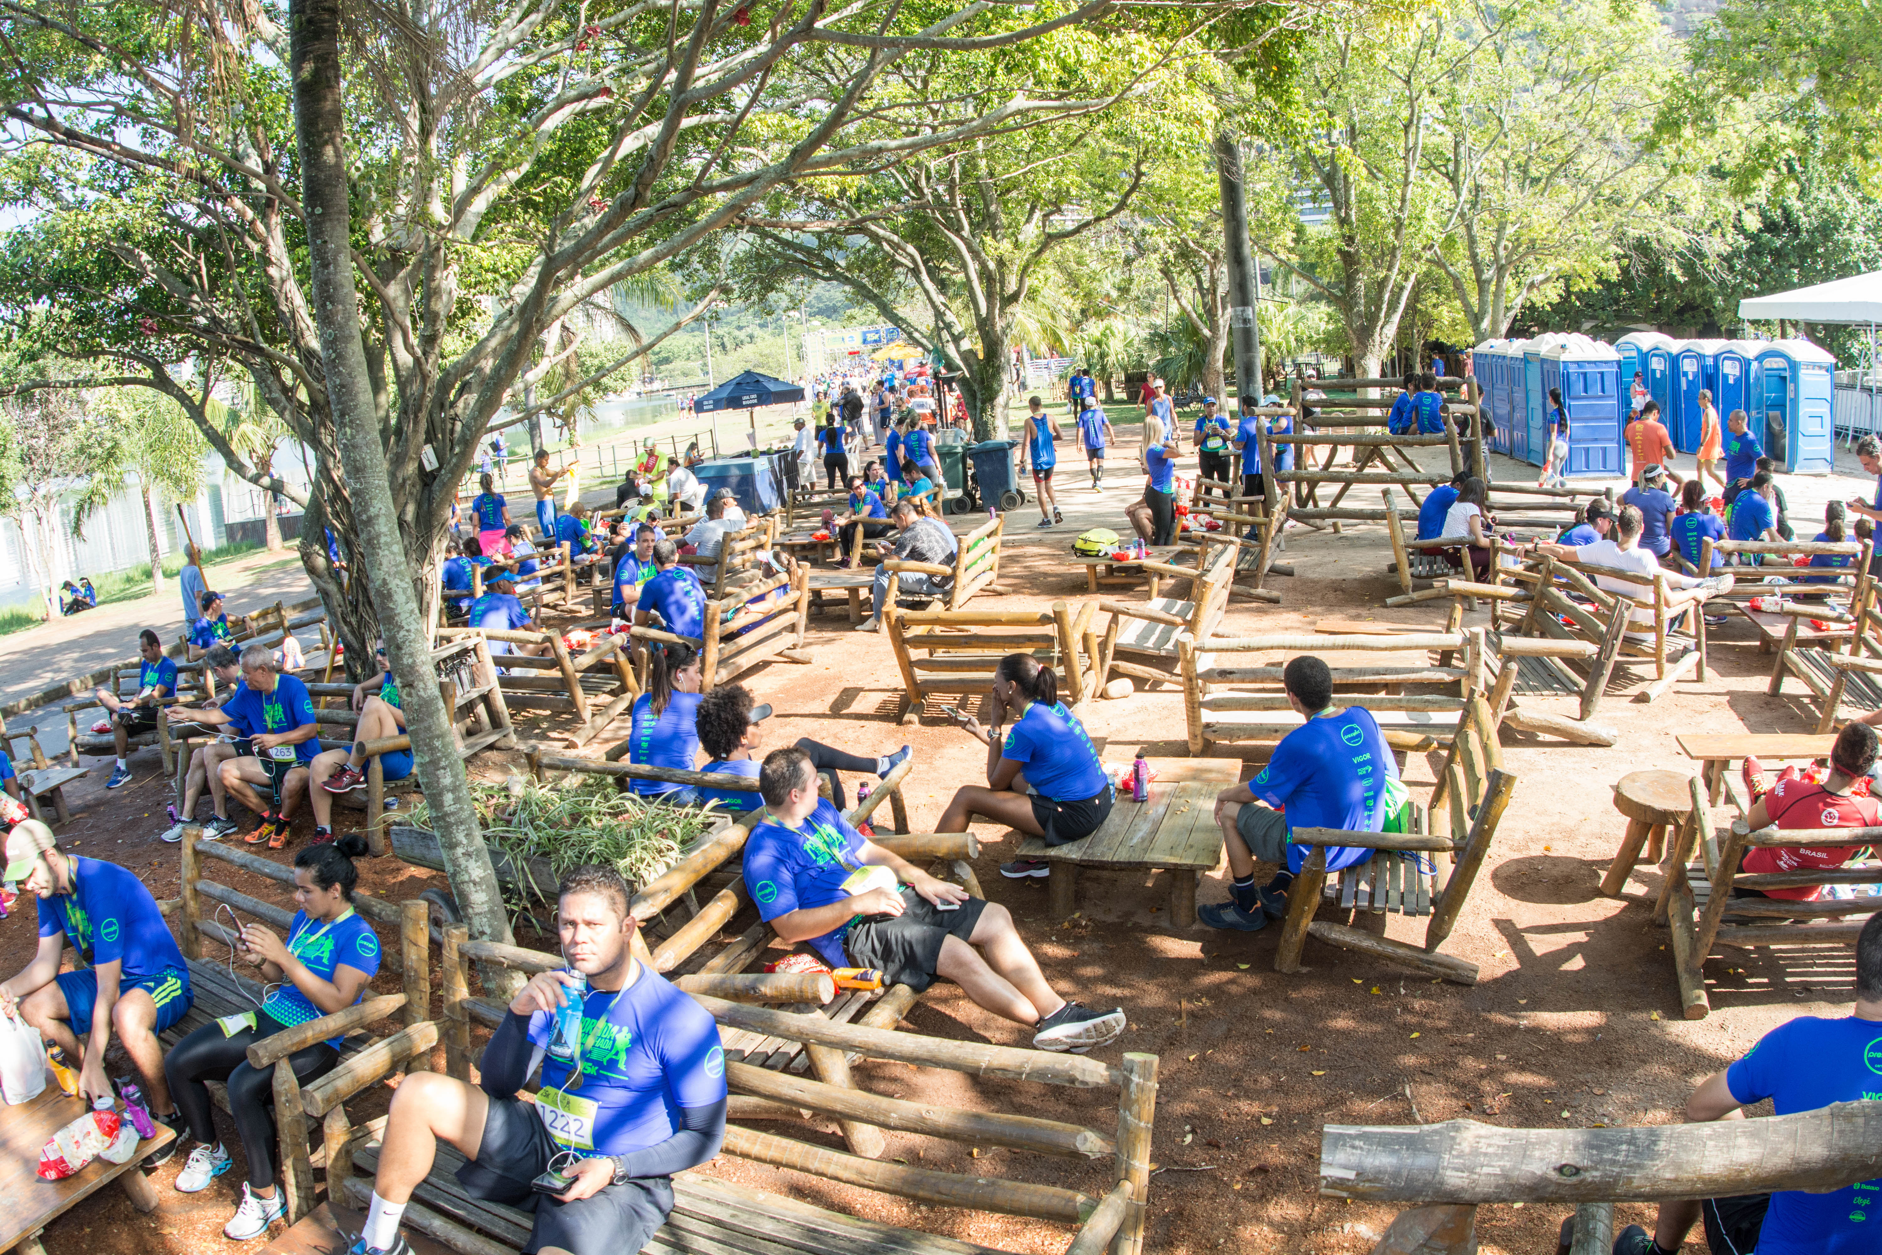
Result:
{"label": "woman in black leggings with white earphones, seated on bench", "polygon": [[[260,924],[247,924],[235,952],[260,967],[269,982],[260,1009],[207,1024],[164,1059],[169,1093],[188,1125],[190,1152],[177,1189],[196,1193],[230,1170],[230,1153],[216,1140],[209,1110],[209,1086],[228,1086],[235,1135],[248,1157],[248,1180],[235,1215],[222,1229],[226,1238],[248,1242],[267,1232],[288,1212],[275,1184],[275,1067],[248,1063],[248,1046],[284,1027],[344,1010],[359,1001],[378,971],[378,937],[354,914],[352,890],[359,879],[354,858],[367,852],[365,837],[350,834],[331,845],[311,845],[294,856],[294,901],[299,905],[286,941]],[[339,1039],[314,1042],[286,1057],[305,1086],[339,1063]]]}

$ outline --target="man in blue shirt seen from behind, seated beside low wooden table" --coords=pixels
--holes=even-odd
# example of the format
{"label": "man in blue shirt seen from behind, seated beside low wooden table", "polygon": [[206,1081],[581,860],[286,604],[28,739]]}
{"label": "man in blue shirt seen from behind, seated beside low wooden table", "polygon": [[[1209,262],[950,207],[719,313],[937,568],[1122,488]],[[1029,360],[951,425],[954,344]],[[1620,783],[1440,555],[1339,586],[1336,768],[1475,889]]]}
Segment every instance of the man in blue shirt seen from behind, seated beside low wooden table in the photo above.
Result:
{"label": "man in blue shirt seen from behind, seated beside low wooden table", "polygon": [[[1268,916],[1287,914],[1287,888],[1310,852],[1289,843],[1295,828],[1385,832],[1387,781],[1398,779],[1398,760],[1378,721],[1357,706],[1332,704],[1332,670],[1314,655],[1291,659],[1282,687],[1306,723],[1282,738],[1255,779],[1216,794],[1216,824],[1235,881],[1229,901],[1197,909],[1210,928],[1253,933],[1267,928]],[[1370,856],[1364,847],[1331,847],[1327,871]],[[1280,871],[1257,886],[1255,862],[1280,864]]]}

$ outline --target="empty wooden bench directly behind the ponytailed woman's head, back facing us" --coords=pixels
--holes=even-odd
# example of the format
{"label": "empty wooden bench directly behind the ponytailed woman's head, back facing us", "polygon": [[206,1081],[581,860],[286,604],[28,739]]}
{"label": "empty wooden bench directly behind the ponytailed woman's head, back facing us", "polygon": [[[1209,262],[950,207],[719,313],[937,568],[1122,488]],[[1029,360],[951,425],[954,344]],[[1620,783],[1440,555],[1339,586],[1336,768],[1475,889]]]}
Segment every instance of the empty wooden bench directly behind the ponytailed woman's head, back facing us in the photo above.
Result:
{"label": "empty wooden bench directly behind the ponytailed woman's head, back facing us", "polygon": [[1048,610],[903,610],[883,612],[888,643],[901,672],[901,723],[915,723],[930,698],[988,692],[994,668],[1009,653],[1031,653],[1050,664],[1067,706],[1101,691],[1092,602],[1077,610],[1052,602]]}

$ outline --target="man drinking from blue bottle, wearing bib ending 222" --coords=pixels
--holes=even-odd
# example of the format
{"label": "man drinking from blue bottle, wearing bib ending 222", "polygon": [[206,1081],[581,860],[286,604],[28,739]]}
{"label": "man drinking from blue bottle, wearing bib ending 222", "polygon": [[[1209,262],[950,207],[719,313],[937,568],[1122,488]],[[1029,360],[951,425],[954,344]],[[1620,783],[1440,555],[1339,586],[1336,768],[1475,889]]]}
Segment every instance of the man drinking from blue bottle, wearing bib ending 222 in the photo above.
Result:
{"label": "man drinking from blue bottle, wearing bib ending 222", "polygon": [[[544,1255],[640,1251],[674,1210],[674,1172],[719,1153],[719,1025],[629,950],[638,924],[621,873],[576,867],[557,898],[572,971],[538,973],[510,999],[484,1048],[480,1086],[442,1072],[399,1084],[350,1255],[410,1255],[399,1217],[439,1142],[469,1159],[457,1180],[470,1195],[534,1204],[523,1249]],[[570,997],[582,999],[582,1018],[565,1037],[559,1012]],[[525,1103],[516,1091],[536,1063],[542,1088]]]}

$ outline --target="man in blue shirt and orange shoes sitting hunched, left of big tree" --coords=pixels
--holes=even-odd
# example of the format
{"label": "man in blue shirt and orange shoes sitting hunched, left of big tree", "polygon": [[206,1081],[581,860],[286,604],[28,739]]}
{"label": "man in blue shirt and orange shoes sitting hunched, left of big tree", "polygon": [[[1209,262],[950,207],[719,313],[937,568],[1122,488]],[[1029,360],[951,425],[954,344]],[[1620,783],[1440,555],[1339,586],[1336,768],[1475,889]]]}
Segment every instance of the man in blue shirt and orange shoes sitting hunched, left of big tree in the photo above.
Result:
{"label": "man in blue shirt and orange shoes sitting hunched, left of big tree", "polygon": [[[220,709],[198,711],[198,723],[235,723],[250,732],[250,755],[230,758],[218,768],[222,788],[262,817],[262,826],[245,839],[248,845],[267,841],[279,850],[288,839],[294,805],[307,788],[307,764],[320,753],[320,730],[314,723],[314,702],[307,685],[295,675],[275,670],[275,655],[267,645],[248,645],[241,651],[243,687]],[[265,785],[273,794],[263,802],[256,792]]]}

